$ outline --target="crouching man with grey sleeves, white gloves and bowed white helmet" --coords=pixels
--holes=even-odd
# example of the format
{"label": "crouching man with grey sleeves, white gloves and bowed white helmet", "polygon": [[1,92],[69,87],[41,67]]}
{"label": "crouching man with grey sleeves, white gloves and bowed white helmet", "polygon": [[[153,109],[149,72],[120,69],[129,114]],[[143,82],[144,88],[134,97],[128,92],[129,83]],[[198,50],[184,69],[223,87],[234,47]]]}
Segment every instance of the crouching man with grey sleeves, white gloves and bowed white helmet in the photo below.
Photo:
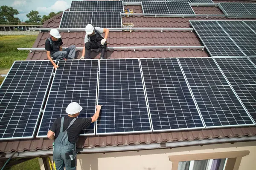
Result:
{"label": "crouching man with grey sleeves, white gloves and bowed white helmet", "polygon": [[[109,29],[100,27],[94,28],[91,24],[87,24],[85,32],[84,48],[80,59],[84,59],[84,55],[85,58],[90,58],[91,49],[101,49],[100,58],[105,58],[107,49],[106,40],[108,38]],[[103,33],[105,33],[105,37],[103,37]]]}

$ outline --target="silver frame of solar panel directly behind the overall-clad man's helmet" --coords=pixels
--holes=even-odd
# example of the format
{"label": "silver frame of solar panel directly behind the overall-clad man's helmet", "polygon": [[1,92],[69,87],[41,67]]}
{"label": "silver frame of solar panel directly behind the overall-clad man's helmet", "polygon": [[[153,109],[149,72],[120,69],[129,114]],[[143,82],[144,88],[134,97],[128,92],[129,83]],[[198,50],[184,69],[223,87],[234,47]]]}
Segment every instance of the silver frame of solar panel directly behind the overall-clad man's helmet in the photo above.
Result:
{"label": "silver frame of solar panel directly behind the overall-clad man's helmet", "polygon": [[[86,60],[99,60],[99,59],[83,59],[83,60],[86,61]],[[59,61],[58,61],[58,63],[59,63]],[[58,65],[58,64],[57,64],[57,65]],[[58,68],[57,68],[57,69],[58,69]],[[99,70],[99,62],[98,62],[98,70]],[[57,71],[57,70],[56,70],[56,71]],[[52,84],[53,84],[55,75],[56,75],[56,74],[54,74],[54,76],[53,76],[51,86],[52,86]],[[99,73],[97,74],[97,80],[99,80]],[[99,84],[99,81],[97,81],[97,88],[98,88],[98,84]],[[97,95],[98,95],[97,90],[98,90],[98,89],[96,89],[96,101],[95,101],[95,103],[97,102]],[[50,89],[49,95],[50,95],[51,91],[52,91],[52,89]],[[65,91],[65,90],[63,90],[63,91]],[[89,90],[84,90],[84,91],[89,91]],[[48,95],[48,96],[49,96],[49,95]],[[49,99],[49,98],[47,98],[47,101],[46,101],[46,103],[45,103],[45,107],[44,107],[44,108],[47,107],[48,99]],[[44,109],[44,111],[45,111],[45,109]],[[95,112],[96,112],[96,107],[95,107]],[[43,120],[43,117],[44,117],[44,112],[43,112],[43,115],[42,115],[41,120]],[[96,126],[95,126],[95,125],[96,125],[96,124],[95,124],[95,122],[94,122],[94,133],[80,134],[80,136],[93,136],[93,135],[95,135],[95,130],[96,130]],[[40,126],[38,127],[38,133],[39,133],[40,128],[41,128],[41,123],[40,123]],[[38,133],[37,133],[37,135],[36,135],[36,138],[46,138],[46,137],[47,137],[47,135],[38,136]]]}

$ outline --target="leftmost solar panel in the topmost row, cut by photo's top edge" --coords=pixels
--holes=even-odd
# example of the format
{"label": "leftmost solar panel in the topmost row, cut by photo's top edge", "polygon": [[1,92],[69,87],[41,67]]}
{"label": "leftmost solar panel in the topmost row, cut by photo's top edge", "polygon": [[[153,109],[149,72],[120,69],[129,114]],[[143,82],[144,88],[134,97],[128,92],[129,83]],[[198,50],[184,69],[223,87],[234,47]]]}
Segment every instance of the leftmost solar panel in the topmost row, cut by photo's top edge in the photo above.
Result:
{"label": "leftmost solar panel in the topmost row, cut by photo's top edge", "polygon": [[97,4],[94,0],[72,0],[69,11],[96,12]]}

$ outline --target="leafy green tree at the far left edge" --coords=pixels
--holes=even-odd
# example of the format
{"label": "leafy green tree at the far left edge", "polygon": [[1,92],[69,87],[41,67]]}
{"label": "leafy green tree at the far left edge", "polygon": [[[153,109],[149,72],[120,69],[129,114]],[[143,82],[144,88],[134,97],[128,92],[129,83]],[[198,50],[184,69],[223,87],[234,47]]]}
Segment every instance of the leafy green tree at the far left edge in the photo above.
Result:
{"label": "leafy green tree at the far left edge", "polygon": [[19,14],[17,9],[13,9],[10,6],[0,6],[0,22],[1,23],[20,23],[20,19],[14,17],[14,15]]}

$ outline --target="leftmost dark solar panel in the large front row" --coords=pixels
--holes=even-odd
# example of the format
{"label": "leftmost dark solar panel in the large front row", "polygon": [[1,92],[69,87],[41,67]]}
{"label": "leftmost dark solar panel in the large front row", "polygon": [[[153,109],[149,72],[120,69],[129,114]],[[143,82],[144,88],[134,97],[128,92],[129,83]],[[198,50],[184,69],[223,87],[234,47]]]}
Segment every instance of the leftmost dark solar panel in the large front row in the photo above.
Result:
{"label": "leftmost dark solar panel in the large front row", "polygon": [[0,140],[33,138],[52,76],[49,61],[15,61],[0,88]]}

